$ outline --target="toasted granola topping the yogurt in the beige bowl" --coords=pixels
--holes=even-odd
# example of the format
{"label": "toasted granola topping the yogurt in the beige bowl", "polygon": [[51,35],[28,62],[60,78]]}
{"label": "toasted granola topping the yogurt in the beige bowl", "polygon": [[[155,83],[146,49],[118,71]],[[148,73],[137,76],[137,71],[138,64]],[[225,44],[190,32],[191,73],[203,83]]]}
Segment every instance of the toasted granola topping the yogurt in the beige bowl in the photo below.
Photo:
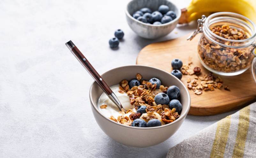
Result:
{"label": "toasted granola topping the yogurt in the beige bowl", "polygon": [[[156,89],[156,84],[152,84],[147,80],[142,80],[142,75],[136,75],[137,80],[140,81],[141,85],[129,88],[128,81],[122,80],[119,83],[119,93],[126,93],[130,98],[130,103],[134,105],[134,109],[129,109],[126,111],[119,111],[120,116],[117,119],[114,116],[110,116],[109,119],[121,123],[123,125],[131,126],[132,121],[135,119],[143,119],[148,122],[151,119],[158,119],[161,121],[162,125],[171,123],[179,118],[178,112],[175,108],[169,109],[166,104],[156,104],[154,102],[154,97],[158,93],[167,92],[168,87],[163,85],[159,89]],[[147,113],[135,112],[140,106],[146,106]],[[105,105],[100,106],[100,108],[106,108]],[[129,114],[129,116],[125,116]]]}

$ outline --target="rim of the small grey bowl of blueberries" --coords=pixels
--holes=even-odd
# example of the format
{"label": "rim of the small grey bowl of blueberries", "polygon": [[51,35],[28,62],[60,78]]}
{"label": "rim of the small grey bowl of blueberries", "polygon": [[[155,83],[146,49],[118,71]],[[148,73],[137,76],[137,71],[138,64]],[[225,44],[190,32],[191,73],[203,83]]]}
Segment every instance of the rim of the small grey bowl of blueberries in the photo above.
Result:
{"label": "rim of the small grey bowl of blueberries", "polygon": [[154,27],[166,26],[166,25],[170,25],[170,24],[172,24],[172,23],[175,23],[176,21],[179,20],[179,18],[180,18],[180,16],[181,16],[181,10],[177,7],[177,5],[174,4],[173,2],[169,1],[169,0],[165,0],[165,1],[170,2],[175,8],[177,8],[179,15],[178,15],[175,19],[173,19],[172,21],[170,21],[170,22],[168,22],[168,23],[165,23],[165,24],[153,25],[153,24],[143,23],[143,22],[141,22],[141,21],[139,21],[139,20],[133,18],[133,17],[129,14],[129,12],[128,12],[128,5],[129,5],[132,1],[135,1],[135,0],[131,0],[131,1],[129,1],[129,2],[127,3],[126,9],[125,9],[125,14],[126,14],[129,18],[131,18],[132,20],[134,20],[134,21],[136,21],[136,22],[138,22],[138,23],[140,23],[140,24],[143,24],[143,25],[154,26]]}

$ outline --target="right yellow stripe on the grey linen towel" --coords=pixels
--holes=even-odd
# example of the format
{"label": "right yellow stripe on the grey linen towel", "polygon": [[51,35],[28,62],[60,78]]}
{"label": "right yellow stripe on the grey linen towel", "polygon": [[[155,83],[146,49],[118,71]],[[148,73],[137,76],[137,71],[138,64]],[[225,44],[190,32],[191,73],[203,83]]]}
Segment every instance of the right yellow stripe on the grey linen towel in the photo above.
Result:
{"label": "right yellow stripe on the grey linen towel", "polygon": [[233,150],[232,158],[239,158],[244,156],[245,141],[247,137],[247,132],[249,128],[249,115],[250,106],[246,106],[239,112],[239,122],[237,129],[237,138]]}

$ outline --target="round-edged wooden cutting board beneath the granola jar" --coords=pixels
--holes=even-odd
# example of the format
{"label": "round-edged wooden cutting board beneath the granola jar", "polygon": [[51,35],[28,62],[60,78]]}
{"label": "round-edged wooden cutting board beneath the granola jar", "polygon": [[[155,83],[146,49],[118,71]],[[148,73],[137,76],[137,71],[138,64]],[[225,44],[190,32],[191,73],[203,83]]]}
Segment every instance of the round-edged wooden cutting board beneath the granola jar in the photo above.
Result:
{"label": "round-edged wooden cutting board beneath the granola jar", "polygon": [[[160,68],[171,72],[171,61],[174,58],[181,59],[183,64],[192,61],[191,69],[195,66],[201,68],[201,75],[209,71],[205,69],[197,56],[197,44],[200,35],[197,35],[192,41],[186,38],[152,43],[144,47],[137,57],[136,64],[147,65]],[[183,75],[181,81],[187,86],[187,78],[194,79],[195,75]],[[215,89],[214,91],[203,91],[201,95],[196,95],[193,90],[189,90],[191,96],[191,115],[214,115],[222,112],[231,111],[239,107],[248,105],[256,101],[256,83],[252,76],[252,70],[249,68],[241,75],[221,76],[223,85],[229,86],[231,91]],[[200,80],[199,82],[200,83]]]}

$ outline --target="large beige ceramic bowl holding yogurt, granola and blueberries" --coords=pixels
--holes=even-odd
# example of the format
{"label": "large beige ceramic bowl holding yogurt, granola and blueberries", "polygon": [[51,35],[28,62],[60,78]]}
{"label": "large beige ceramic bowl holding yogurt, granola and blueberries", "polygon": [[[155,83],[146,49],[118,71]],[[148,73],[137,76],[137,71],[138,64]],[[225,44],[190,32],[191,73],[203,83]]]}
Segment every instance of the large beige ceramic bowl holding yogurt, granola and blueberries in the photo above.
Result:
{"label": "large beige ceramic bowl holding yogurt, granola and blueberries", "polygon": [[184,84],[175,76],[166,71],[149,66],[131,65],[114,68],[102,74],[102,78],[104,78],[109,86],[112,86],[118,84],[123,79],[127,79],[128,81],[134,79],[136,73],[141,74],[144,79],[149,80],[150,78],[156,77],[161,80],[163,85],[176,85],[179,87],[183,109],[177,120],[167,125],[147,128],[124,126],[114,122],[103,116],[97,108],[97,101],[103,91],[95,82],[92,84],[89,93],[91,108],[98,125],[110,138],[127,146],[149,147],[162,143],[178,130],[189,111],[190,95]]}

